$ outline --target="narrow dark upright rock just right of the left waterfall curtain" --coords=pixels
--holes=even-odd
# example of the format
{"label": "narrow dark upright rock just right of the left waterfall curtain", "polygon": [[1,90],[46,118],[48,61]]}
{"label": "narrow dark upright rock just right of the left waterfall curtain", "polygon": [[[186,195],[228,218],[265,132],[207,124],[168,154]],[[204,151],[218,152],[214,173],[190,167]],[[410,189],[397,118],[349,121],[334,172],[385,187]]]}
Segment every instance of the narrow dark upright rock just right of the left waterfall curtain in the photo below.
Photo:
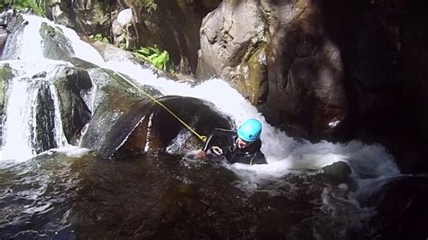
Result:
{"label": "narrow dark upright rock just right of the left waterfall curtain", "polygon": [[62,129],[69,143],[75,144],[91,117],[91,103],[84,99],[93,88],[91,79],[85,70],[64,67],[57,71],[53,82],[60,100]]}

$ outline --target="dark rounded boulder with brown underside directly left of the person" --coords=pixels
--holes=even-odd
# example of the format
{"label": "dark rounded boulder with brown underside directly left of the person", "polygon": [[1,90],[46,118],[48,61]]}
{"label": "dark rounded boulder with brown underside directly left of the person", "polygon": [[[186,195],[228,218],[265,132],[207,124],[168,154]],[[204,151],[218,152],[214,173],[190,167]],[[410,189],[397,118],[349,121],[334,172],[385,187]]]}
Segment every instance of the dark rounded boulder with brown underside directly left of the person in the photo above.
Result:
{"label": "dark rounded boulder with brown underside directly left of the person", "polygon": [[[160,97],[158,100],[198,134],[208,137],[216,127],[232,128],[228,117],[221,115],[209,103],[198,98],[167,96]],[[118,148],[116,156],[145,152],[184,154],[202,147],[198,136],[192,134],[163,106],[151,102],[149,105],[143,103],[143,105],[130,109],[127,115],[133,116],[139,113],[144,113],[144,115],[140,119],[135,119],[139,121],[138,124],[129,134],[126,142]],[[118,121],[118,123],[124,125],[126,120]],[[117,138],[112,137],[112,139]],[[106,148],[103,153],[113,154],[112,150],[115,148],[109,146],[109,149],[111,149],[109,152],[106,151]]]}

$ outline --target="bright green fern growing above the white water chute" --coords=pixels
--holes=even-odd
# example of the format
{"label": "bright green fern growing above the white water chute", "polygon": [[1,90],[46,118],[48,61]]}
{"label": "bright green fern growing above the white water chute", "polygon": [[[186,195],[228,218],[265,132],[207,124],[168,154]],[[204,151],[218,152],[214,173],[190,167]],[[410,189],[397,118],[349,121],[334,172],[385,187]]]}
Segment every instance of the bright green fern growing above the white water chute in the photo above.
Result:
{"label": "bright green fern growing above the white water chute", "polygon": [[135,51],[135,56],[152,62],[155,68],[165,71],[174,71],[168,51],[161,51],[156,47],[141,47]]}

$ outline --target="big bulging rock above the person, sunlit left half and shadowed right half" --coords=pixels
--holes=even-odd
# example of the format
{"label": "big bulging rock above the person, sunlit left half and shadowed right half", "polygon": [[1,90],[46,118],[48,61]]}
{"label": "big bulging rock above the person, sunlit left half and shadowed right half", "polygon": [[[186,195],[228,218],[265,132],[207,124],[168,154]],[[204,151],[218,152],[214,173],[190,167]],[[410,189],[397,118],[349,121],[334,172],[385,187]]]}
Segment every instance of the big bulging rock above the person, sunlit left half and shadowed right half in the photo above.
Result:
{"label": "big bulging rock above the person, sunlit left half and shadowed right half", "polygon": [[274,125],[331,134],[348,102],[340,49],[317,14],[311,1],[225,1],[203,20],[200,76],[228,79]]}

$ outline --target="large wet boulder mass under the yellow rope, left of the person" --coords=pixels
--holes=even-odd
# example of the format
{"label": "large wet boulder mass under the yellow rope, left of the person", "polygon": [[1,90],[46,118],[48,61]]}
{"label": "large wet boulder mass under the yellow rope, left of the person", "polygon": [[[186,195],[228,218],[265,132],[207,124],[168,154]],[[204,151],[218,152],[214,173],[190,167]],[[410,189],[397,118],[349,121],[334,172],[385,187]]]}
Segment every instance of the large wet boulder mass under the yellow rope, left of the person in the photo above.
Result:
{"label": "large wet boulder mass under the yellow rope, left of the person", "polygon": [[101,158],[146,152],[182,154],[201,148],[199,139],[163,106],[199,134],[208,135],[215,127],[231,127],[227,117],[200,99],[162,97],[157,89],[136,87],[130,79],[106,69],[88,72],[97,90],[91,106],[93,115],[80,145],[95,150]]}

